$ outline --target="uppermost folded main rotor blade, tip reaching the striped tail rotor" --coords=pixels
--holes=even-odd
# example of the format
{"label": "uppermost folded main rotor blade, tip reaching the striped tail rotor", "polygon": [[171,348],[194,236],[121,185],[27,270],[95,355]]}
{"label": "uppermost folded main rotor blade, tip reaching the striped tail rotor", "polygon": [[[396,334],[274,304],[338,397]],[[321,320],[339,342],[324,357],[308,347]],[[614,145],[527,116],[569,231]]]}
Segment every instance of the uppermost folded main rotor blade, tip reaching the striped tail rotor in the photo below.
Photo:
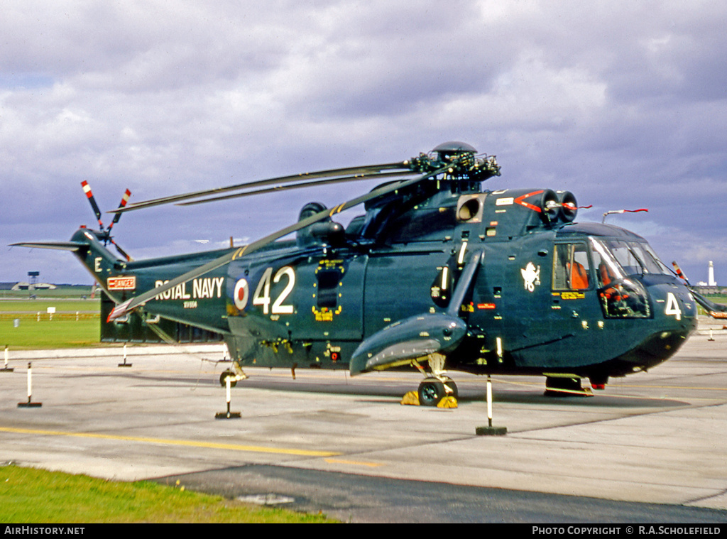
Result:
{"label": "uppermost folded main rotor blade, tip reaching the striped tail rotor", "polygon": [[332,177],[342,175],[356,175],[363,174],[365,172],[380,172],[382,170],[401,169],[402,172],[411,172],[408,161],[402,161],[401,163],[387,163],[387,164],[371,164],[364,165],[361,167],[347,167],[342,169],[329,169],[321,170],[319,172],[303,172],[302,174],[294,174],[288,176],[279,176],[268,178],[267,180],[256,180],[253,182],[238,183],[236,185],[228,185],[227,187],[220,187],[214,189],[206,189],[204,191],[193,191],[191,193],[182,193],[180,195],[164,196],[158,199],[149,199],[140,202],[134,202],[129,204],[125,208],[117,208],[111,210],[110,213],[123,213],[130,212],[134,209],[148,208],[152,206],[159,206],[161,204],[170,204],[172,202],[179,202],[182,200],[196,199],[201,196],[209,196],[217,193],[228,193],[230,191],[236,191],[237,189],[246,189],[252,187],[262,187],[263,185],[270,185],[272,183],[288,183],[295,180],[315,180],[319,177]]}

